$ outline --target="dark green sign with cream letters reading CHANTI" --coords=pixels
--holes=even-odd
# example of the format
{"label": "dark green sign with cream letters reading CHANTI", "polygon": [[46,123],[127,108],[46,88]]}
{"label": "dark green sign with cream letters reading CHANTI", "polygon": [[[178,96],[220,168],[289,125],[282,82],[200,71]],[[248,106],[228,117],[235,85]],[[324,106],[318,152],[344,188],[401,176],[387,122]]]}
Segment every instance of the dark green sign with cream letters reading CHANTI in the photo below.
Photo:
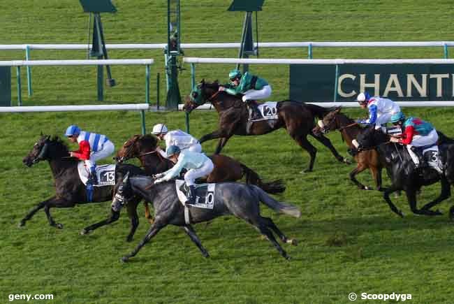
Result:
{"label": "dark green sign with cream letters reading CHANTI", "polygon": [[292,64],[290,99],[353,101],[359,92],[395,101],[451,101],[454,65],[451,64],[342,64],[337,86],[334,64]]}

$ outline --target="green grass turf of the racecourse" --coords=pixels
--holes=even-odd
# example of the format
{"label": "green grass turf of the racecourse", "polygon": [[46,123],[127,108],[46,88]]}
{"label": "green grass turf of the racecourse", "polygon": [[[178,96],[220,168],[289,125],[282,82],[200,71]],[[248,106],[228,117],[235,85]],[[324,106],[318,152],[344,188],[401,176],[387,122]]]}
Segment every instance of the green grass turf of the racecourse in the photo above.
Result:
{"label": "green grass turf of the racecourse", "polygon": [[[119,13],[103,16],[107,42],[166,41],[164,2],[115,1]],[[239,40],[242,14],[226,12],[230,1],[182,2],[184,42]],[[87,16],[81,13],[78,1],[3,0],[0,7],[0,44],[86,41]],[[451,41],[454,29],[451,1],[267,0],[259,22],[261,41],[269,42]],[[236,55],[236,50],[186,50],[186,56]],[[84,59],[85,52],[33,51],[31,56]],[[441,48],[314,50],[315,58],[442,56]],[[0,52],[0,59],[23,57],[23,52]],[[110,57],[154,58],[153,75],[163,75],[161,51],[112,51]],[[263,49],[261,57],[306,58],[307,50]],[[198,65],[198,79],[226,79],[228,68],[231,65]],[[252,68],[272,83],[272,100],[287,98],[287,66]],[[95,72],[93,67],[33,68],[34,96],[27,98],[24,86],[24,105],[95,103]],[[106,89],[105,103],[145,99],[145,68],[114,66],[112,73],[119,85]],[[162,80],[161,91],[163,85]],[[180,78],[183,94],[189,92],[189,85],[186,70]],[[155,91],[153,83],[153,101]],[[454,137],[454,110],[405,110],[430,120],[437,129]],[[352,117],[364,115],[360,110],[346,113]],[[128,112],[0,115],[0,303],[8,302],[8,294],[54,294],[54,301],[49,303],[349,303],[350,292],[411,294],[411,303],[453,302],[453,224],[446,216],[453,200],[440,206],[445,215],[428,218],[411,215],[407,200],[396,198],[395,203],[406,215],[400,219],[390,212],[381,194],[353,187],[347,180],[353,166],[337,164],[314,140],[318,147],[316,171],[300,175],[309,157],[283,130],[254,138],[233,138],[224,152],[265,178],[286,181],[287,191],[279,199],[298,205],[302,217],[274,215],[267,208],[263,213],[271,215],[284,233],[300,241],[298,247],[285,245],[291,261],[284,261],[251,226],[230,218],[217,219],[208,227],[195,227],[210,259],[204,259],[180,229],[168,227],[131,263],[122,264],[119,257],[133,249],[148,227],[141,206],[141,224],[133,243],[125,241],[129,229],[125,215],[94,234],[78,234],[84,226],[108,214],[109,202],[53,209],[52,215],[64,224],[63,230],[48,226],[42,211],[27,226],[17,228],[33,205],[53,194],[47,164],[22,166],[22,157],[31,150],[40,131],[61,135],[68,124],[78,123],[90,131],[107,134],[119,147],[126,138],[140,133],[139,121],[138,113]],[[184,115],[147,113],[148,129],[157,122],[165,122],[172,129],[184,128]],[[196,137],[216,126],[214,113],[191,115],[191,131]],[[346,154],[339,134],[329,137],[339,152]],[[204,144],[204,149],[212,152],[214,142]],[[359,179],[372,184],[368,173]],[[437,185],[425,188],[418,196],[420,205],[438,191]]]}

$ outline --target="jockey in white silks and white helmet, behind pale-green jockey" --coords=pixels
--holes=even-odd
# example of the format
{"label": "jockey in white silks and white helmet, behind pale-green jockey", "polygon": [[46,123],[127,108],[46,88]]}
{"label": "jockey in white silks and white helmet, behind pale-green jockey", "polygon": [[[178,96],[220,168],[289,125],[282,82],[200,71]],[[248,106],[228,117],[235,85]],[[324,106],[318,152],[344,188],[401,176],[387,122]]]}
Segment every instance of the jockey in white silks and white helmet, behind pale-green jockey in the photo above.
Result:
{"label": "jockey in white silks and white helmet, behind pale-green jockey", "polygon": [[[184,133],[181,130],[168,131],[165,124],[155,124],[153,126],[152,134],[154,134],[160,140],[166,141],[166,148],[171,145],[176,145],[180,150],[189,150],[191,152],[202,152],[202,146],[196,138],[188,133]],[[165,151],[161,147],[157,147],[156,150],[164,158],[168,158]]]}

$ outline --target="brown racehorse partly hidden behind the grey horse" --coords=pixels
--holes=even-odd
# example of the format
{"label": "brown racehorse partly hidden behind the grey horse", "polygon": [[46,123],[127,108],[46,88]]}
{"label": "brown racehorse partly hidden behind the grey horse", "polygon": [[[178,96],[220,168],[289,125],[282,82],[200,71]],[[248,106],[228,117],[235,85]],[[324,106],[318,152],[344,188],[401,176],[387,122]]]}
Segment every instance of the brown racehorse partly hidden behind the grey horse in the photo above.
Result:
{"label": "brown racehorse partly hidden behind the grey horse", "polygon": [[[140,159],[140,164],[144,168],[147,175],[154,175],[156,173],[162,173],[173,167],[172,161],[165,159],[157,152],[156,147],[158,146],[158,138],[152,134],[146,135],[135,135],[129,140],[126,140],[122,148],[117,152],[117,156],[114,159],[117,164],[122,164],[124,161],[132,158]],[[247,184],[256,184],[263,190],[271,194],[277,194],[284,192],[286,187],[281,180],[275,180],[273,182],[263,182],[257,173],[252,169],[248,168],[239,161],[235,161],[225,155],[212,155],[210,156],[214,164],[214,170],[208,175],[206,180],[202,182],[234,182],[235,180],[241,180],[245,175]],[[135,205],[137,208],[137,204]],[[105,226],[119,219],[119,213],[121,205],[118,208],[112,205],[110,210],[110,216],[108,219],[104,219],[101,222],[97,222],[90,226],[85,227],[80,232],[81,234],[88,234],[101,226]],[[131,208],[131,207],[129,207]],[[145,216],[148,221],[152,223],[153,218],[149,212],[148,205],[145,205]]]}

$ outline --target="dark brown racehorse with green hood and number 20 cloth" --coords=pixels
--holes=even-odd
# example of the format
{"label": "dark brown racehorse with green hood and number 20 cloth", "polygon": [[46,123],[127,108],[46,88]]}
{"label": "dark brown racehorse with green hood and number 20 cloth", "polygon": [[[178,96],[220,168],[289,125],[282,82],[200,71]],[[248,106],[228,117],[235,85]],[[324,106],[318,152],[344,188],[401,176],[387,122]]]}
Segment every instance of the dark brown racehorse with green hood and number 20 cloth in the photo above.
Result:
{"label": "dark brown racehorse with green hood and number 20 cloth", "polygon": [[254,122],[248,128],[249,114],[247,106],[242,102],[241,95],[233,96],[226,92],[219,92],[218,89],[219,83],[217,81],[209,83],[202,80],[193,89],[184,104],[184,110],[187,113],[191,113],[193,109],[203,105],[206,101],[212,103],[217,110],[219,114],[219,129],[206,134],[199,140],[200,143],[203,143],[206,140],[220,138],[214,154],[219,154],[228,139],[233,135],[263,135],[280,128],[285,128],[293,140],[309,153],[309,166],[302,172],[313,170],[317,152],[316,147],[307,140],[307,135],[313,136],[325,145],[325,147],[328,147],[338,161],[349,163],[346,158],[337,153],[328,138],[322,134],[320,136],[314,136],[314,133],[312,133],[312,129],[315,126],[314,117],[322,118],[323,115],[328,113],[327,109],[300,101],[279,101],[277,103],[278,119],[275,121],[274,126],[270,126],[266,121],[259,121]]}

